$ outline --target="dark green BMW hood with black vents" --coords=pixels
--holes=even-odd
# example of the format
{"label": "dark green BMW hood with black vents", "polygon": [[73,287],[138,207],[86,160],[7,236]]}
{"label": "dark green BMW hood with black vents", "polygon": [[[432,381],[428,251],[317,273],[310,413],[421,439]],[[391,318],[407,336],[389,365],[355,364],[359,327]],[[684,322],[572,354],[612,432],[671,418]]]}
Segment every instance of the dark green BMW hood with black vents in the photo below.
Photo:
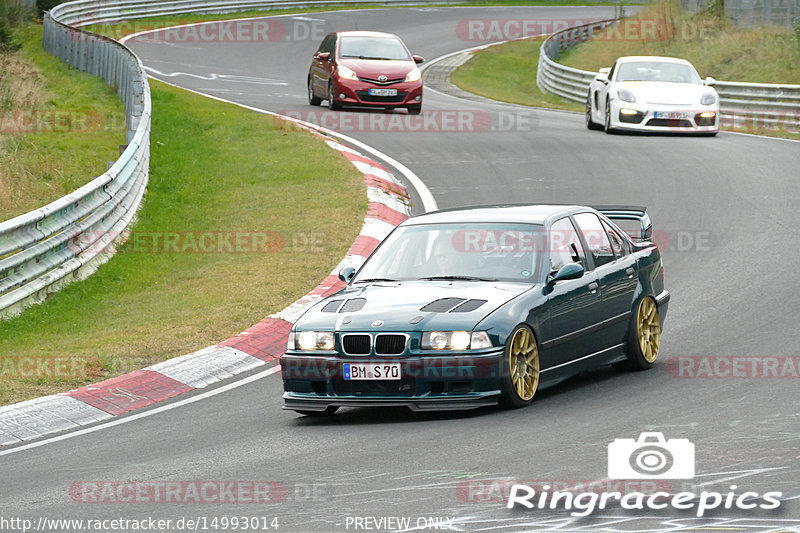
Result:
{"label": "dark green BMW hood with black vents", "polygon": [[399,281],[350,285],[310,308],[298,330],[471,330],[509,300],[531,290],[527,283]]}

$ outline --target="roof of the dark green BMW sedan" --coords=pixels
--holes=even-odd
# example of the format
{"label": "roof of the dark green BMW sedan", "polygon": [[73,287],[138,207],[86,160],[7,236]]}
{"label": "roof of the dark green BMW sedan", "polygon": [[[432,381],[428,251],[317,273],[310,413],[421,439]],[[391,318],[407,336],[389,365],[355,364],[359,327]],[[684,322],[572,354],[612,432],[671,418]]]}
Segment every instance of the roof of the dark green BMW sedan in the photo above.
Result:
{"label": "roof of the dark green BMW sedan", "polygon": [[500,204],[442,209],[417,215],[403,222],[403,226],[419,224],[451,224],[458,222],[510,222],[545,224],[551,219],[580,211],[594,211],[591,207],[561,204]]}

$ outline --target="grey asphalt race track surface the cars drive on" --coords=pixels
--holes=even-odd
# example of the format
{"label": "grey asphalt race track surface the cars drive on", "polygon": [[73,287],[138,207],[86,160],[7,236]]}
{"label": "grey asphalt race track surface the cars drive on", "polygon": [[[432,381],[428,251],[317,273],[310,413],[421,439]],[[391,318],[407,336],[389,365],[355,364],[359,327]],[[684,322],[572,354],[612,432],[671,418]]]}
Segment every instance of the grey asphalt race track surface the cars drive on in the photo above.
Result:
{"label": "grey asphalt race track surface the cars drive on", "polygon": [[[431,59],[481,44],[459,36],[464,19],[586,20],[612,14],[601,7],[430,8],[281,20],[287,28],[305,24],[323,34],[353,28],[392,31],[413,53]],[[317,44],[316,38],[299,38],[129,46],[154,69],[155,78],[271,111],[319,115],[325,108],[310,107],[305,96]],[[412,169],[440,207],[647,205],[655,228],[669,238],[663,256],[672,293],[653,370],[584,374],[540,391],[522,410],[343,409],[329,420],[282,411],[281,381],[271,375],[130,423],[1,457],[0,514],[277,517],[279,531],[292,532],[354,531],[353,518],[366,516],[410,517],[412,528],[422,517],[455,518],[452,527],[459,531],[798,531],[796,376],[681,378],[668,371],[667,361],[798,355],[800,304],[793,289],[800,145],[724,132],[716,138],[609,136],[586,130],[577,114],[426,92],[424,112],[442,111],[469,113],[464,116],[484,121],[483,126],[444,132],[341,129]],[[781,491],[786,500],[777,512],[724,510],[703,519],[692,512],[618,509],[579,519],[563,510],[507,510],[505,499],[480,489],[484,485],[465,484],[603,480],[607,445],[642,431],[662,431],[695,444],[697,475],[671,482],[676,490],[724,493],[735,484],[737,492]],[[286,496],[276,493],[281,501],[267,505],[73,501],[70,489],[93,480],[272,481],[285,487]]]}

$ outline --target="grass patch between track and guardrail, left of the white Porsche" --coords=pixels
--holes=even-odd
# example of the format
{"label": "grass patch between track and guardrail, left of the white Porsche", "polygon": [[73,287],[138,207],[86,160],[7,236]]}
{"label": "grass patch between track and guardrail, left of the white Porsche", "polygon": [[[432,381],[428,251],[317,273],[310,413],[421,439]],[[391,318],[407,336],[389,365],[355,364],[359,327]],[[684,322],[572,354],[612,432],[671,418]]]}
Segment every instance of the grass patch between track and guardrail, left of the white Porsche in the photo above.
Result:
{"label": "grass patch between track and guardrail, left of the white Porsche", "polygon": [[583,106],[544,93],[536,85],[543,37],[490,46],[450,74],[450,81],[493,100],[551,109],[580,111]]}

